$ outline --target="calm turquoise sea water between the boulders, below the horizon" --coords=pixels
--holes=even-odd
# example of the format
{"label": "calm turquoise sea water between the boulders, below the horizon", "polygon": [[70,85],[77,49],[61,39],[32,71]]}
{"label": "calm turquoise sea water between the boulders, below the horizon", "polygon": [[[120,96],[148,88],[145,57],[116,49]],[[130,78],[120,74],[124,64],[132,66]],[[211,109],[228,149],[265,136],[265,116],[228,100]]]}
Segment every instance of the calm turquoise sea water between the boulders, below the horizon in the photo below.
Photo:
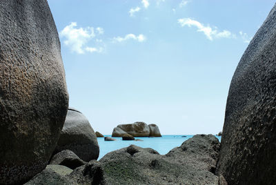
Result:
{"label": "calm turquoise sea water between the boulders, below the horizon", "polygon": [[[104,135],[104,137],[111,137],[111,135]],[[121,137],[113,137],[117,139],[114,142],[105,142],[103,137],[98,137],[99,143],[99,158],[103,157],[107,153],[112,152],[113,150],[118,150],[130,146],[130,144],[135,144],[142,148],[152,148],[157,150],[161,155],[168,153],[172,148],[180,146],[187,139],[193,137],[193,135],[163,135],[162,137],[135,137],[135,139],[141,139],[143,142],[138,141],[123,141]],[[220,136],[217,136],[217,139],[220,139]]]}

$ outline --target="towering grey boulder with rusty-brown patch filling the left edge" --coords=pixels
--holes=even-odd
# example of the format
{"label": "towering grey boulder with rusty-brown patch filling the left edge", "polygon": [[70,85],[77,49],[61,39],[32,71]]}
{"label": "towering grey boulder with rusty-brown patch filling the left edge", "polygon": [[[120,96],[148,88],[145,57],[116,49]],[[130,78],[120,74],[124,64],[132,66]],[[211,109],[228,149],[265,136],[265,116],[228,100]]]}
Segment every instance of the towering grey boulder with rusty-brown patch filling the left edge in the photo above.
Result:
{"label": "towering grey boulder with rusty-brown patch filling the left edge", "polygon": [[0,15],[0,184],[17,184],[46,167],[68,93],[47,1],[0,1]]}

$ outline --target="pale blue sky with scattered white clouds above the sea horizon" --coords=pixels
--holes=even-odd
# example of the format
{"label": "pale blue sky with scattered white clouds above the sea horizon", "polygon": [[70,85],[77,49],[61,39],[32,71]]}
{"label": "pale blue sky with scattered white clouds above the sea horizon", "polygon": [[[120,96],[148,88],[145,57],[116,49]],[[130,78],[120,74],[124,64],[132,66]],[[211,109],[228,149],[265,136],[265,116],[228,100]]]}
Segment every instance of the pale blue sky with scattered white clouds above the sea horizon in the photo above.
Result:
{"label": "pale blue sky with scattered white clouds above the sea horizon", "polygon": [[157,124],[163,135],[217,134],[230,81],[270,0],[48,0],[70,107],[111,135]]}

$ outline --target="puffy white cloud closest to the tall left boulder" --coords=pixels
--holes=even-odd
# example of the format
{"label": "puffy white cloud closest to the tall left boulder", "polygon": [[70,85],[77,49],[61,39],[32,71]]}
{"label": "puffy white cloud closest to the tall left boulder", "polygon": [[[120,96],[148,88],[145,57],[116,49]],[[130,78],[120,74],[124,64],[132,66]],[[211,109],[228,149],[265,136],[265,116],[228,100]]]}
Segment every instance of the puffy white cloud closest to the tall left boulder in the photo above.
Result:
{"label": "puffy white cloud closest to the tall left boulder", "polygon": [[97,34],[103,34],[103,28],[96,28],[97,34],[94,28],[76,28],[77,23],[72,22],[59,32],[61,38],[65,38],[63,43],[68,46],[72,52],[78,54],[84,54],[85,52],[102,52],[100,48],[91,48],[87,46],[87,43],[97,36]]}

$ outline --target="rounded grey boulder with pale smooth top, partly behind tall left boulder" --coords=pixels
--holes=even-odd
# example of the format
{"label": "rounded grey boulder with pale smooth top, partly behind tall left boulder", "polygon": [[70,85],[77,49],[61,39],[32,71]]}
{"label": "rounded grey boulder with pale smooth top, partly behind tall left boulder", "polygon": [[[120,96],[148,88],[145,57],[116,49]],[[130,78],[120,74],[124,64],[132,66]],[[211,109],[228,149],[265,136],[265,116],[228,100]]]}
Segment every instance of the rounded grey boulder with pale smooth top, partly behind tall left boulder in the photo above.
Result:
{"label": "rounded grey boulder with pale smooth top, partly behind tall left boulder", "polygon": [[99,145],[93,128],[88,119],[74,108],[68,108],[56,153],[62,150],[72,150],[85,162],[99,157]]}

